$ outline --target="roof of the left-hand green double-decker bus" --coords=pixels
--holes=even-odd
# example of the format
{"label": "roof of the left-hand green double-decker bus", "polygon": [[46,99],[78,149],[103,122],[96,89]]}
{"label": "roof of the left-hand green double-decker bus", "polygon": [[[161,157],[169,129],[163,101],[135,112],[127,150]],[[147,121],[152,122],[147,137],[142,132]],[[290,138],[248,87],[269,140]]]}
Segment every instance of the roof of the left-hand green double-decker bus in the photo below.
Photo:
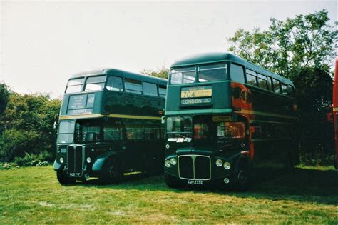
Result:
{"label": "roof of the left-hand green double-decker bus", "polygon": [[97,69],[93,71],[83,71],[81,73],[74,74],[73,76],[71,76],[71,79],[85,77],[85,76],[97,76],[97,75],[122,76],[128,79],[135,79],[138,81],[145,81],[145,82],[150,82],[154,84],[160,84],[163,86],[167,85],[166,79],[158,78],[155,76],[149,76],[145,74],[135,74],[135,73],[128,72],[128,71],[123,71],[121,69]]}

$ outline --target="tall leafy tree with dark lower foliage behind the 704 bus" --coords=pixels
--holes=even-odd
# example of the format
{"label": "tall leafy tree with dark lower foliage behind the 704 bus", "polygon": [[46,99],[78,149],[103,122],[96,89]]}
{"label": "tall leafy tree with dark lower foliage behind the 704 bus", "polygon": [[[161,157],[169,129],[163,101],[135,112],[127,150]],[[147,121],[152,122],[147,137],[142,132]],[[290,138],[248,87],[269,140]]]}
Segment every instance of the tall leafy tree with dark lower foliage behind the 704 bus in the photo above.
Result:
{"label": "tall leafy tree with dark lower foliage behind the 704 bus", "polygon": [[[230,51],[295,84],[299,123],[296,134],[304,161],[327,163],[333,143],[332,124],[323,110],[332,103],[330,66],[338,31],[329,25],[327,11],[297,15],[285,21],[271,19],[265,31],[239,29],[228,39]],[[335,22],[337,24],[337,22]]]}

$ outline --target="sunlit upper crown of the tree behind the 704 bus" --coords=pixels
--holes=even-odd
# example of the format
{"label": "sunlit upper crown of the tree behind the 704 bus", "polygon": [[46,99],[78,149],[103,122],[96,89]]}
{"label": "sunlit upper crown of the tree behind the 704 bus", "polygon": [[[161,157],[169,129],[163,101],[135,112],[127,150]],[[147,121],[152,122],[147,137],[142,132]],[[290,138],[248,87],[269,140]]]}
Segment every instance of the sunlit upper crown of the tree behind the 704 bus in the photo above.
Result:
{"label": "sunlit upper crown of the tree behind the 704 bus", "polygon": [[338,31],[329,25],[327,11],[285,21],[272,18],[270,22],[266,31],[237,30],[228,39],[232,43],[229,50],[287,78],[308,67],[329,69]]}

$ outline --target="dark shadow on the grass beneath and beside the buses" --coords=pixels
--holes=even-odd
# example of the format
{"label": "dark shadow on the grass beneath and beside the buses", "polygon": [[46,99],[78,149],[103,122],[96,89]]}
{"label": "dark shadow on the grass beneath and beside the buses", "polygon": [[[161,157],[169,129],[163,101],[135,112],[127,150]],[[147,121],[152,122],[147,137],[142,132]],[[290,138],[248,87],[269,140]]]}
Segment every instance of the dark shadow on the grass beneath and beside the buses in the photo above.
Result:
{"label": "dark shadow on the grass beneath and beside the buses", "polygon": [[201,189],[186,187],[170,189],[166,186],[163,176],[147,177],[143,174],[126,176],[118,184],[103,185],[97,179],[80,186],[96,186],[100,189],[124,189],[140,191],[170,191],[176,193],[193,191],[236,196],[240,198],[270,199],[272,201],[292,200],[299,202],[316,202],[319,204],[338,204],[338,174],[337,171],[320,171],[316,169],[297,168],[293,172],[274,172],[267,176],[253,176],[252,186],[246,192],[223,191],[217,188]]}

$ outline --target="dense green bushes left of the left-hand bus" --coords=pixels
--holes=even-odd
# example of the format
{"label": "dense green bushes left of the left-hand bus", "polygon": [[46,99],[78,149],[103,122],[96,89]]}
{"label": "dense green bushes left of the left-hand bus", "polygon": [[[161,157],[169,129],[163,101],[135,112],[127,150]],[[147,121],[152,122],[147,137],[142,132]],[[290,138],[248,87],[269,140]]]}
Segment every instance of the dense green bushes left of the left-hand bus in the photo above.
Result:
{"label": "dense green bushes left of the left-hand bus", "polygon": [[0,141],[0,160],[48,152],[55,154],[54,116],[61,101],[43,94],[11,94],[4,111],[4,133]]}

